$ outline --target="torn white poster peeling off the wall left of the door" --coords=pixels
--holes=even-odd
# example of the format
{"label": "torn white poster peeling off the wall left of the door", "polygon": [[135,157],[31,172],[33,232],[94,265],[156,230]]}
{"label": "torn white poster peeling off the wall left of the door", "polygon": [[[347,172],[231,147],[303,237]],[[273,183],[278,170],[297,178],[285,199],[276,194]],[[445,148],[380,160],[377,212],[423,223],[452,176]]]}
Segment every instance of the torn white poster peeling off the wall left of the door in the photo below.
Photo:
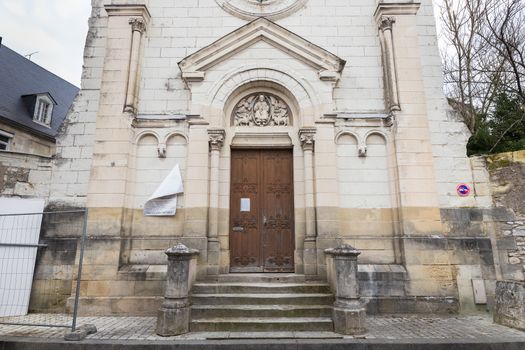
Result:
{"label": "torn white poster peeling off the wall left of the door", "polygon": [[177,194],[183,193],[179,165],[175,165],[155,193],[144,204],[146,216],[173,216],[177,212]]}

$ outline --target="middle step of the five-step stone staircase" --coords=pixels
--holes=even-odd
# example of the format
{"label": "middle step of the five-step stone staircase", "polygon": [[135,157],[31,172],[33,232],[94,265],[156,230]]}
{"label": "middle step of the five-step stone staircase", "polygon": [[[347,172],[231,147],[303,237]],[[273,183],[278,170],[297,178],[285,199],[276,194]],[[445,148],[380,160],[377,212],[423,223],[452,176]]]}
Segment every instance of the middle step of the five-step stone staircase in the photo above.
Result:
{"label": "middle step of the five-step stone staircase", "polygon": [[192,294],[193,305],[331,305],[331,293]]}

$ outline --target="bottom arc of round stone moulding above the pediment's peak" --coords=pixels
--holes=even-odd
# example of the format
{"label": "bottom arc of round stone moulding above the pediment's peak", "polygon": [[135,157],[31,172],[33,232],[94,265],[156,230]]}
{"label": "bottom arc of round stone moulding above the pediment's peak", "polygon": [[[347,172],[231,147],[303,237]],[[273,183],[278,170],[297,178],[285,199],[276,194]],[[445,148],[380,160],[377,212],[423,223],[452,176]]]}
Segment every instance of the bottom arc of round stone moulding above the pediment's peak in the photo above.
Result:
{"label": "bottom arc of round stone moulding above the pediment's peak", "polygon": [[302,8],[307,0],[215,0],[226,12],[246,20],[284,18]]}

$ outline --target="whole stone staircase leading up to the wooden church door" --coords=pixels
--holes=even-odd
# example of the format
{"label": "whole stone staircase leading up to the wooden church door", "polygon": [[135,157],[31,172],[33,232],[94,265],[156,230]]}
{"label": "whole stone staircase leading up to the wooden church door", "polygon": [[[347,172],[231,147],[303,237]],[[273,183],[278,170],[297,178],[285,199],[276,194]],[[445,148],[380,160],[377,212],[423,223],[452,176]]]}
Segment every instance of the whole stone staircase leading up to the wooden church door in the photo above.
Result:
{"label": "whole stone staircase leading up to the wooden church door", "polygon": [[228,274],[194,284],[192,332],[333,331],[333,294],[304,275]]}

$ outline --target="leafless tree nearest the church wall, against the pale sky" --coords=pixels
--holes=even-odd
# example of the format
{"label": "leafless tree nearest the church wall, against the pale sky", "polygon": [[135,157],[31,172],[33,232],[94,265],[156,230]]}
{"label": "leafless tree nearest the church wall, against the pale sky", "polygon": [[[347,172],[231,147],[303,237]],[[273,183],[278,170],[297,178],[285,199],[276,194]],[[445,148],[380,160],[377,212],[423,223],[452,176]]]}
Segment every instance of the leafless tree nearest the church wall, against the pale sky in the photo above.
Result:
{"label": "leafless tree nearest the church wall, against the pale sky", "polygon": [[441,17],[447,95],[472,133],[499,90],[503,60],[480,36],[487,31],[485,5],[491,0],[443,0]]}

